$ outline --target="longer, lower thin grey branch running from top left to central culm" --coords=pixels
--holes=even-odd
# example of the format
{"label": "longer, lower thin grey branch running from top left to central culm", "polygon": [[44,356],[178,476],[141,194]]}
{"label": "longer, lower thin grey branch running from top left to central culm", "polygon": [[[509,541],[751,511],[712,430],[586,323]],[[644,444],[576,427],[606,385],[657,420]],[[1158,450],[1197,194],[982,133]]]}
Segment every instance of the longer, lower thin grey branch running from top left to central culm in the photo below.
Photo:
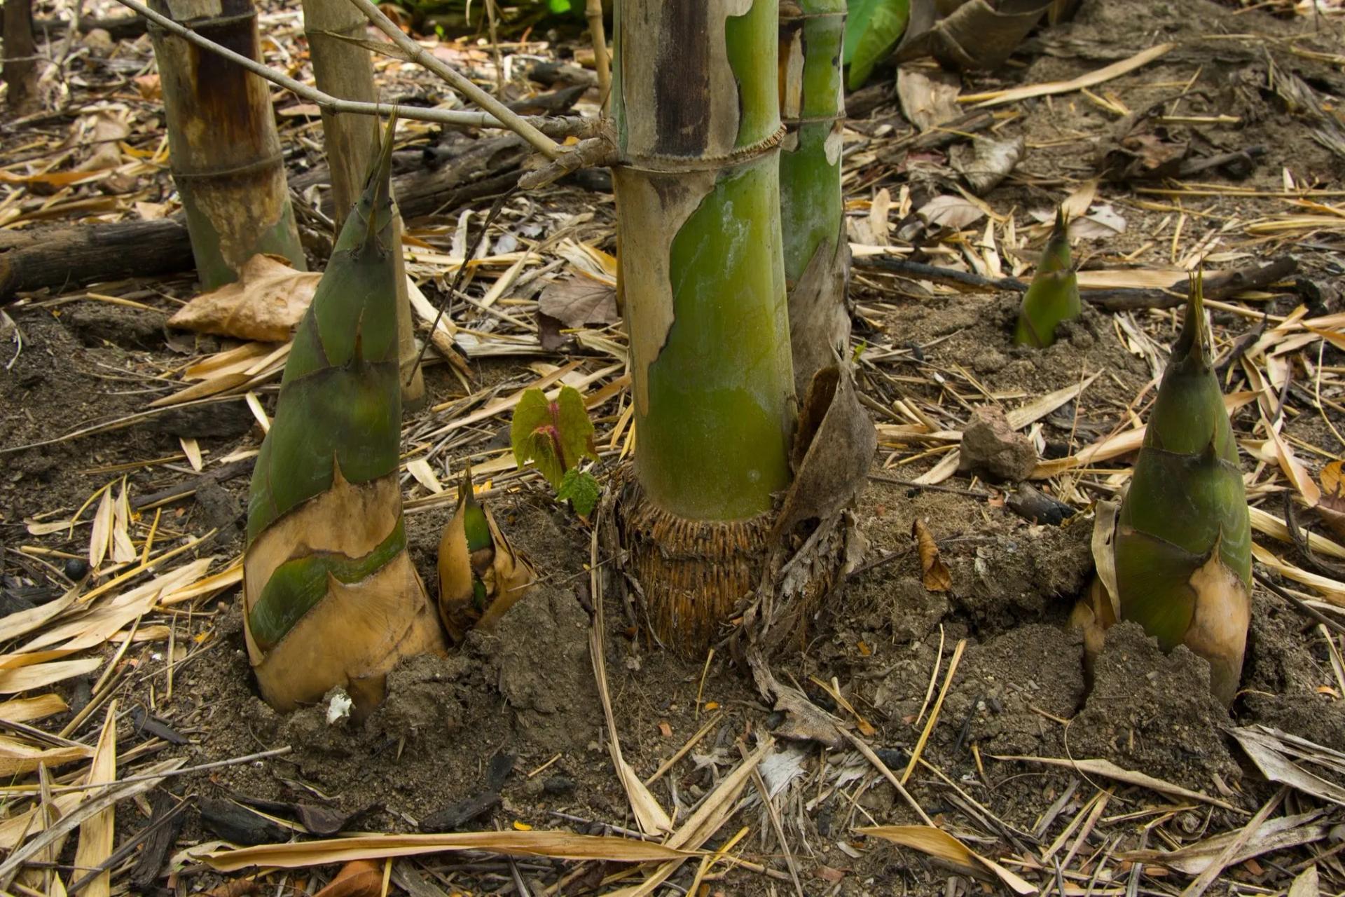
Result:
{"label": "longer, lower thin grey branch running from top left to central culm", "polygon": [[[414,121],[430,121],[434,124],[455,125],[459,128],[502,128],[504,130],[514,130],[515,133],[519,133],[519,136],[523,136],[518,130],[518,128],[503,124],[499,118],[487,112],[464,112],[460,109],[422,109],[418,106],[398,106],[386,102],[339,100],[336,97],[332,97],[331,94],[325,94],[321,90],[317,90],[316,87],[309,87],[308,85],[300,81],[295,81],[293,78],[280,71],[276,71],[269,66],[264,66],[262,63],[254,59],[249,59],[247,56],[234,52],[229,47],[222,47],[214,40],[200,36],[191,28],[178,22],[174,22],[167,16],[159,15],[157,12],[144,5],[143,3],[139,3],[137,0],[117,0],[117,3],[126,7],[128,9],[137,12],[139,15],[155,23],[164,31],[175,34],[179,38],[183,38],[184,40],[196,44],[202,50],[208,50],[210,52],[218,54],[225,59],[229,59],[230,62],[242,66],[243,69],[253,73],[258,78],[264,78],[273,85],[284,87],[296,97],[316,104],[319,109],[327,112],[350,113],[356,116],[378,116],[378,117],[387,117],[395,112],[399,118],[410,118]],[[506,112],[508,110],[506,109]],[[574,133],[574,121],[570,118],[519,117],[512,112],[510,112],[508,114],[514,121],[522,122],[525,128],[530,128],[535,133],[542,133],[539,129],[555,129],[557,132],[564,132],[566,134]],[[542,139],[546,140],[545,134],[542,134]],[[555,147],[554,143],[551,145]]]}

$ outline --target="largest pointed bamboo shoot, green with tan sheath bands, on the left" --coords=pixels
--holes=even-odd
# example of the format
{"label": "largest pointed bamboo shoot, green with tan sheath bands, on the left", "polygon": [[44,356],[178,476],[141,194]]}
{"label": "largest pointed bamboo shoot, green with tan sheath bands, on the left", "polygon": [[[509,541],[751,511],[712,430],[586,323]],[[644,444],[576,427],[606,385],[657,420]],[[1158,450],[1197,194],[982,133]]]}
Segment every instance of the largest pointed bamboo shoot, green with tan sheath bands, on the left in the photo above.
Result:
{"label": "largest pointed bamboo shoot, green with tan sheath bands, on the left", "polygon": [[406,551],[397,481],[391,141],[389,126],[295,335],[253,471],[243,624],[277,710],[340,686],[367,714],[399,659],[445,650]]}

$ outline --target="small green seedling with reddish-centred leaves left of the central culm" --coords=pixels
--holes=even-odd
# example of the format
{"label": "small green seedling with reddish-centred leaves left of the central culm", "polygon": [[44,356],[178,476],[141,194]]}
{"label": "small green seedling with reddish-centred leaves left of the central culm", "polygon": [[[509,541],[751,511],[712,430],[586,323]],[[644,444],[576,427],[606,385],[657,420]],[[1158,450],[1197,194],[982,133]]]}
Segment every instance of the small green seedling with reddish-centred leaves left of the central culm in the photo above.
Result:
{"label": "small green seedling with reddish-centred leaves left of the central culm", "polygon": [[574,512],[588,516],[597,504],[599,487],[592,473],[578,469],[585,457],[597,460],[593,422],[584,398],[572,386],[562,386],[555,401],[539,389],[523,393],[510,426],[514,463],[519,469],[531,464],[555,490],[555,498],[569,499]]}

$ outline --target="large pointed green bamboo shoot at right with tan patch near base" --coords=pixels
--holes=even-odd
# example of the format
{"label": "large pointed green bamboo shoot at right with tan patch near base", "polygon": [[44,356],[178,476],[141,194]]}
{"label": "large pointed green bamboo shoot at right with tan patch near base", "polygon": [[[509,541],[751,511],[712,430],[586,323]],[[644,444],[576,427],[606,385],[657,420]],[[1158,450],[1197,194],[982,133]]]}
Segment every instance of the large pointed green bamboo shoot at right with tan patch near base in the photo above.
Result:
{"label": "large pointed green bamboo shoot at right with tan patch near base", "polygon": [[1201,305],[1197,274],[1120,506],[1116,604],[1163,650],[1185,644],[1209,660],[1210,691],[1231,703],[1251,620],[1252,539]]}

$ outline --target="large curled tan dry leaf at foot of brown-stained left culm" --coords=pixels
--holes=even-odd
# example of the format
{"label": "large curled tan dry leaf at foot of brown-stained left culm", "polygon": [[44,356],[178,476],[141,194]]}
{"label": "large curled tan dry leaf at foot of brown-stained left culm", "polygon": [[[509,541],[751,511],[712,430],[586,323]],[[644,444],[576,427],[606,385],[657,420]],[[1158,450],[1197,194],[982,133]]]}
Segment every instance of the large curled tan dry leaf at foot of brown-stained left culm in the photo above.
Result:
{"label": "large curled tan dry leaf at foot of brown-stained left culm", "polygon": [[321,274],[297,272],[276,256],[247,260],[238,280],[194,297],[169,327],[284,343],[304,316]]}

